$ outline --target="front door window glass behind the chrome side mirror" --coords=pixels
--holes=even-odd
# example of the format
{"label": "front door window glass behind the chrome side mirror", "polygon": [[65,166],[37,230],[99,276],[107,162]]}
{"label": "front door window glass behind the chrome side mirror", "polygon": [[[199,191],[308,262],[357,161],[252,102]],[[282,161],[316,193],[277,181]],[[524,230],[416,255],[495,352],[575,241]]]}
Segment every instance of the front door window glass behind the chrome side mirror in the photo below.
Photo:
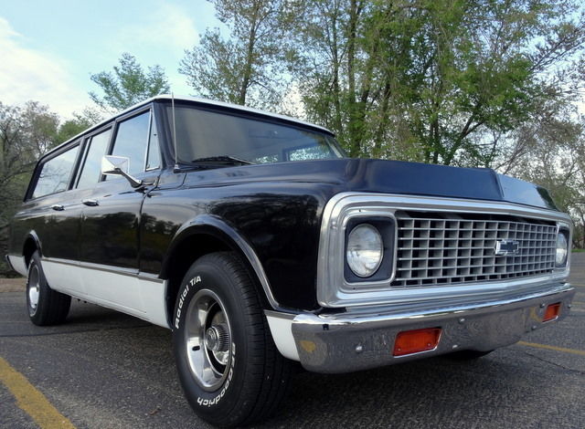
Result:
{"label": "front door window glass behind the chrome side mirror", "polygon": [[145,111],[118,125],[116,139],[113,143],[112,155],[130,158],[128,173],[144,172],[144,158],[146,157],[148,134],[150,125],[150,111]]}

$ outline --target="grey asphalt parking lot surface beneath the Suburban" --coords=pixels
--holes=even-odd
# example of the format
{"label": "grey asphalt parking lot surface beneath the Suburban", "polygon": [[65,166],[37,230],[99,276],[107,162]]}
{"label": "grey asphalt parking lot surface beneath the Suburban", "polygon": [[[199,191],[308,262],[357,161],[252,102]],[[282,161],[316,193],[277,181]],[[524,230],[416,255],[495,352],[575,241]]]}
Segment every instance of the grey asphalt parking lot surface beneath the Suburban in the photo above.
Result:
{"label": "grey asphalt parking lot surface beneath the Suburban", "polygon": [[[280,413],[259,427],[585,427],[585,254],[572,260],[572,313],[525,343],[473,362],[435,358],[344,375],[301,372]],[[45,406],[77,428],[209,427],[183,398],[170,330],[79,302],[68,323],[37,328],[27,319],[21,285],[0,283],[0,357],[44,394]],[[0,427],[39,427],[30,407],[44,405],[29,402],[16,403],[0,382]]]}

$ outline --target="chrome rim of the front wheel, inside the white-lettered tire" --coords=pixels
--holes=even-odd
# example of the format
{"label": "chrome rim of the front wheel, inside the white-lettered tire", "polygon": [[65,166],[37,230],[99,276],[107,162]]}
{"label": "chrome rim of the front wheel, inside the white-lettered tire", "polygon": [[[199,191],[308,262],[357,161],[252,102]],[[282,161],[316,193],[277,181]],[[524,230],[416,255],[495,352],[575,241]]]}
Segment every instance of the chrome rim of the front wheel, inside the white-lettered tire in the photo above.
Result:
{"label": "chrome rim of the front wheel, inside the white-lettered tire", "polygon": [[199,386],[215,391],[228,376],[232,359],[228,315],[218,295],[209,289],[199,290],[186,311],[189,368]]}

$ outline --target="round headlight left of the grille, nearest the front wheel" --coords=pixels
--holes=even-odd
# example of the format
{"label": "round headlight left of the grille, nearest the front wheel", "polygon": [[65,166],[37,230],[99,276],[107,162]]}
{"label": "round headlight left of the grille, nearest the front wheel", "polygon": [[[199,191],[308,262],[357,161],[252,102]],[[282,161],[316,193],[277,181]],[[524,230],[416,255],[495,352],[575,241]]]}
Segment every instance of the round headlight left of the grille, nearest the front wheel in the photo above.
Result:
{"label": "round headlight left of the grille, nearest the front wheel", "polygon": [[347,236],[347,265],[356,276],[372,276],[383,256],[382,236],[374,226],[357,225]]}

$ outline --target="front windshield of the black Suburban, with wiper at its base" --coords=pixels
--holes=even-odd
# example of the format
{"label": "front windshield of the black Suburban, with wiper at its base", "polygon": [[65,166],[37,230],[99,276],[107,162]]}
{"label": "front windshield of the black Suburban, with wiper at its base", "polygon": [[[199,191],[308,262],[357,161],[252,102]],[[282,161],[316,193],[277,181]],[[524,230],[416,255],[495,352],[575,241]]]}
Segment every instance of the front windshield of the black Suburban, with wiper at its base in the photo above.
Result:
{"label": "front windshield of the black Suburban, with wiper at its base", "polygon": [[[169,121],[173,119],[167,107]],[[228,113],[176,106],[178,162],[229,156],[253,163],[342,158],[335,139],[304,130]]]}

